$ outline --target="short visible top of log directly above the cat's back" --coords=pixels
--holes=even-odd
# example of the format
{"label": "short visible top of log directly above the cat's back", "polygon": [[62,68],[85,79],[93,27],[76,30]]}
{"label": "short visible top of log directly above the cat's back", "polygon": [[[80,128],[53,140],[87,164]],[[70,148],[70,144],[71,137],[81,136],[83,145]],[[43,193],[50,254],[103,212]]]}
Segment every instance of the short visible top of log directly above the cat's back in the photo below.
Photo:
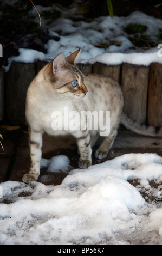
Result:
{"label": "short visible top of log directly above the cat's back", "polygon": [[93,65],[93,73],[111,76],[118,83],[120,82],[120,68],[121,65],[106,65],[96,62]]}

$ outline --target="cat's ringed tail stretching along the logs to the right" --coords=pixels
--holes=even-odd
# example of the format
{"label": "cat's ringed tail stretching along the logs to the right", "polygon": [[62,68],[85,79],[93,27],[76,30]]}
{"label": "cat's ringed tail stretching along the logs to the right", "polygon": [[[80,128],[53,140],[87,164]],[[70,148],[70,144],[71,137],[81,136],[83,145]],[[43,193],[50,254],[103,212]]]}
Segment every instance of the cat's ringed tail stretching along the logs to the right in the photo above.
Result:
{"label": "cat's ringed tail stretching along the logs to the right", "polygon": [[162,136],[162,127],[154,127],[146,124],[140,124],[137,121],[134,121],[132,118],[129,118],[128,115],[122,112],[121,115],[121,124],[126,127],[126,129],[139,133],[145,136],[152,137],[161,137]]}

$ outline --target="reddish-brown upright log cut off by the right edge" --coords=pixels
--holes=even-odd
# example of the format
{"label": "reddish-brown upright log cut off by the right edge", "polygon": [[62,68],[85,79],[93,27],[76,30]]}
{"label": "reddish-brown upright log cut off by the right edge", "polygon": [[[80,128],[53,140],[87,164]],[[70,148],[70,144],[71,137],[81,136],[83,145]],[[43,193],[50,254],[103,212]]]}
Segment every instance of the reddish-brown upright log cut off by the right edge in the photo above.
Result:
{"label": "reddish-brown upright log cut off by the right edge", "polygon": [[148,124],[162,127],[162,65],[150,65],[150,80],[148,86]]}

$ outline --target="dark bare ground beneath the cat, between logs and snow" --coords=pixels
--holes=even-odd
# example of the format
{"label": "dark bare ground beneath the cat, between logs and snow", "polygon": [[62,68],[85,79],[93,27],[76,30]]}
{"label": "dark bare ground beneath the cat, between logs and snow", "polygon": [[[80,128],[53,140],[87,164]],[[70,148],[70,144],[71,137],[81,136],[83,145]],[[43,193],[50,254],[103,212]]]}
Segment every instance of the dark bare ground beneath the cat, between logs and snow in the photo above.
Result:
{"label": "dark bare ground beneath the cat, between logs and snow", "polygon": [[[1,129],[1,134],[3,135],[2,143],[5,151],[3,152],[0,149],[0,181],[22,181],[22,176],[28,173],[30,166],[27,127],[12,131]],[[157,153],[162,156],[162,138],[145,137],[137,135],[132,131],[120,129],[108,157],[104,160],[97,160],[94,157],[94,150],[98,148],[100,142],[101,138],[93,148],[93,164],[129,153]],[[44,134],[42,157],[50,159],[56,155],[66,155],[69,157],[71,166],[69,171],[78,168],[79,155],[77,154],[75,139],[73,137],[51,137]],[[68,173],[61,172],[60,170],[56,173],[47,173],[46,168],[41,168],[38,182],[42,182],[45,185],[60,185],[66,175]],[[133,186],[138,184],[138,181],[132,180],[129,182]],[[151,186],[154,186],[153,181]]]}

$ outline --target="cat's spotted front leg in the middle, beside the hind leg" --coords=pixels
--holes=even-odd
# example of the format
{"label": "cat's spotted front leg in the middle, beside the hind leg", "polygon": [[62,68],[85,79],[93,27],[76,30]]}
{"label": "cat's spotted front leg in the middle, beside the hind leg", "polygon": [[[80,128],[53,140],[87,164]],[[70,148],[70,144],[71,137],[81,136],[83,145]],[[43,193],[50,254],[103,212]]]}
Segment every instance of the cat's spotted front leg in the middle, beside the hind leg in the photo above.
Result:
{"label": "cat's spotted front leg in the middle, beside the hind leg", "polygon": [[81,169],[86,169],[92,164],[92,149],[90,146],[90,134],[89,131],[81,133],[81,136],[76,138],[77,147],[80,153],[80,159],[78,166]]}

